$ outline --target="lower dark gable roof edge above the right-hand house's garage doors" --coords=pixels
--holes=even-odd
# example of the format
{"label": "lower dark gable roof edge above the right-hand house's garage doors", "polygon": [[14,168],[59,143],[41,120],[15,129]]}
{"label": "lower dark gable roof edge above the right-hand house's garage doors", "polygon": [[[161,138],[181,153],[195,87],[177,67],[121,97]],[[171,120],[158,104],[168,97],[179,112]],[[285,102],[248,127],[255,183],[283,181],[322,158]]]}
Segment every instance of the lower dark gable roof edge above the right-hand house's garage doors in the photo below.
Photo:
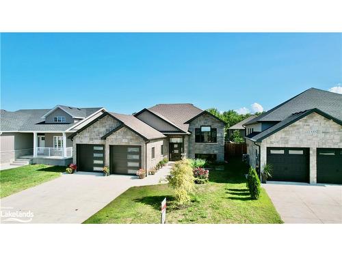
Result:
{"label": "lower dark gable roof edge above the right-hand house's garage doors", "polygon": [[299,119],[306,117],[306,115],[309,115],[309,114],[314,113],[314,112],[336,122],[337,124],[342,125],[341,119],[337,119],[336,117],[333,117],[332,115],[329,115],[328,113],[321,111],[320,109],[308,109],[306,111],[294,113],[290,117],[287,117],[286,119],[284,119],[281,122],[279,122],[278,124],[275,124],[274,126],[268,128],[267,130],[263,130],[262,132],[258,132],[257,134],[253,134],[253,132],[252,132],[252,134],[249,134],[246,137],[248,139],[250,139],[251,141],[260,142],[263,139],[265,139],[266,137],[269,137],[270,135],[274,134],[275,132],[282,130],[286,126],[289,126],[290,124],[293,124],[294,122],[298,121]]}

